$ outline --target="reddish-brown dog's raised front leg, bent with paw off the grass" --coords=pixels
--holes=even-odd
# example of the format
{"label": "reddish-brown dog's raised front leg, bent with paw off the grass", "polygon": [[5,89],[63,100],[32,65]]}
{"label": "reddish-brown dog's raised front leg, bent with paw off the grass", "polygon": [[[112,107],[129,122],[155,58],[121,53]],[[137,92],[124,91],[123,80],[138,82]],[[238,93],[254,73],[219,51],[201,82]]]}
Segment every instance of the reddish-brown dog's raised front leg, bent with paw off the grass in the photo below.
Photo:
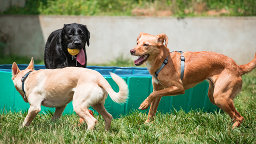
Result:
{"label": "reddish-brown dog's raised front leg, bent with paw off the grass", "polygon": [[170,86],[168,88],[159,90],[159,91],[153,91],[138,107],[138,109],[144,110],[147,109],[148,106],[151,104],[151,102],[156,97],[161,96],[168,96],[168,95],[177,95],[177,94],[184,94],[185,90],[183,86],[177,87],[177,86]]}

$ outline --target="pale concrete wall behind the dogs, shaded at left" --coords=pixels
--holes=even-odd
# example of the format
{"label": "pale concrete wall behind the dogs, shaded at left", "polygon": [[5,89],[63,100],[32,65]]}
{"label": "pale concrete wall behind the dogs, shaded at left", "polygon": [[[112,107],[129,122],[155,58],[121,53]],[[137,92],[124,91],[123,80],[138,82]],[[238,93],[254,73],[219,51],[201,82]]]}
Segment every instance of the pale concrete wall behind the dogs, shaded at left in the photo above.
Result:
{"label": "pale concrete wall behind the dogs, shaded at left", "polygon": [[256,17],[120,17],[120,16],[45,16],[0,15],[0,31],[8,33],[8,50],[19,55],[43,58],[48,35],[64,23],[86,24],[90,45],[89,63],[113,60],[136,45],[140,31],[165,33],[170,50],[215,51],[238,64],[252,60],[256,50]]}

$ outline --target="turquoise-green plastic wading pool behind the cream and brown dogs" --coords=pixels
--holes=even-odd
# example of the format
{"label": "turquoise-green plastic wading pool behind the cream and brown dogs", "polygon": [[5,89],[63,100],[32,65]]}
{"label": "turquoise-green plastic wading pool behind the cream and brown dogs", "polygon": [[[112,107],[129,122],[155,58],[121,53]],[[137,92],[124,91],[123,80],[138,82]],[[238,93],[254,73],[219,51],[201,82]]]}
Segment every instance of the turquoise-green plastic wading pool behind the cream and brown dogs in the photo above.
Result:
{"label": "turquoise-green plastic wading pool behind the cream and brown dogs", "polygon": [[[18,64],[18,67],[19,69],[25,69],[27,64]],[[36,70],[44,69],[45,66],[35,64],[34,68]],[[109,96],[105,100],[105,108],[113,117],[119,116],[120,114],[127,114],[130,110],[137,109],[152,92],[152,76],[145,67],[87,66],[87,68],[100,72],[116,92],[118,92],[119,88],[110,77],[108,71],[118,74],[128,84],[129,98],[126,103],[117,104],[113,102]],[[184,94],[162,97],[157,110],[161,112],[170,112],[174,109],[180,110],[180,108],[185,112],[191,109],[201,109],[207,112],[219,110],[216,105],[213,105],[209,101],[207,91],[208,82],[205,80],[195,87],[185,90]],[[18,91],[16,91],[11,80],[11,64],[0,65],[0,111],[20,111],[28,108],[29,104],[23,101],[23,98]],[[54,111],[55,108],[41,106],[41,112],[47,110]],[[145,111],[148,112],[148,110],[149,108]],[[72,112],[73,106],[72,102],[70,102],[67,104],[64,113]]]}

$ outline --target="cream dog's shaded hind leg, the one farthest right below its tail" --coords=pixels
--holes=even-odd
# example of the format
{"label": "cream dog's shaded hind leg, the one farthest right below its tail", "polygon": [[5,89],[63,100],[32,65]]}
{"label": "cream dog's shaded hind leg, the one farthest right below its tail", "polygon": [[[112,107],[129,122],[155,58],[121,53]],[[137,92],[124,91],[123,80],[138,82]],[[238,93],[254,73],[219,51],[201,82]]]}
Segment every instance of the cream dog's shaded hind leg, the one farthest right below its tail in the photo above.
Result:
{"label": "cream dog's shaded hind leg, the one farthest right below its tail", "polygon": [[110,129],[111,121],[113,116],[108,113],[104,107],[104,102],[102,103],[97,103],[94,105],[91,105],[102,117],[104,118],[105,121],[105,131],[108,131]]}

